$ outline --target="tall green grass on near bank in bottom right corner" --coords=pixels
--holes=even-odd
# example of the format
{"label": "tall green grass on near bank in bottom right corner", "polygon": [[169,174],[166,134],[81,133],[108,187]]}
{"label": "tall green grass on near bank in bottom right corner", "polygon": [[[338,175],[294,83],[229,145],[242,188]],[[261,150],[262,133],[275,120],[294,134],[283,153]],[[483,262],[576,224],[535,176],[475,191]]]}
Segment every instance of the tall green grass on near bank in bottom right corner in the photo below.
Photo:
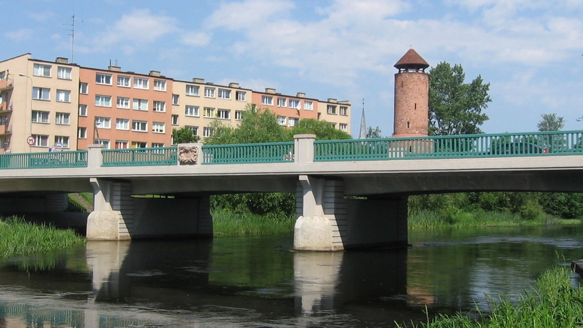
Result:
{"label": "tall green grass on near bank in bottom right corner", "polygon": [[[536,288],[525,292],[518,303],[501,297],[491,302],[489,314],[438,315],[427,322],[398,327],[414,328],[566,328],[583,325],[583,288],[574,288],[570,270],[552,267],[536,281]],[[477,318],[477,319],[472,319]]]}

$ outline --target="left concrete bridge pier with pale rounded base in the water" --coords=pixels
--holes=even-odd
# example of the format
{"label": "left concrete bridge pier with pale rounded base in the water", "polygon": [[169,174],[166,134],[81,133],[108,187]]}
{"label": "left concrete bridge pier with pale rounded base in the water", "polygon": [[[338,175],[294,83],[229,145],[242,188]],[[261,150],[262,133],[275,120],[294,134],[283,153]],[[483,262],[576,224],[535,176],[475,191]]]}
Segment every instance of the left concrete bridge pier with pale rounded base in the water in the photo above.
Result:
{"label": "left concrete bridge pier with pale rounded base in the water", "polygon": [[91,183],[94,211],[87,218],[87,240],[212,237],[209,195],[135,197],[130,182],[92,178]]}

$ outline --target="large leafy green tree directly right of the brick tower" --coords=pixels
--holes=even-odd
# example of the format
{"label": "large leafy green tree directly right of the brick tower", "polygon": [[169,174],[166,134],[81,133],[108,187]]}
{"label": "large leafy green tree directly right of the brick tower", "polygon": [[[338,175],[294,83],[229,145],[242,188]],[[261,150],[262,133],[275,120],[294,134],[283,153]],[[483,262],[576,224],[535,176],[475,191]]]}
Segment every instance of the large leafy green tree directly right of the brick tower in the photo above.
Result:
{"label": "large leafy green tree directly right of the brick tower", "polygon": [[465,83],[461,65],[441,62],[429,73],[429,134],[469,135],[482,133],[479,126],[488,116],[482,110],[491,101],[490,83],[477,76]]}

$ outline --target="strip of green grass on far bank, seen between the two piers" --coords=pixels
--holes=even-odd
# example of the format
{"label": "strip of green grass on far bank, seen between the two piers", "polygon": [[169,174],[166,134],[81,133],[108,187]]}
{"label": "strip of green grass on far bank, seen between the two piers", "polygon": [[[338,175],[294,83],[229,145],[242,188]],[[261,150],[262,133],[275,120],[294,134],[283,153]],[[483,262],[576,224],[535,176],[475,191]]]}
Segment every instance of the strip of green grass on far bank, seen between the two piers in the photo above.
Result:
{"label": "strip of green grass on far bank, seen between the two piers", "polygon": [[293,233],[293,217],[236,214],[217,209],[212,213],[215,236],[285,235]]}

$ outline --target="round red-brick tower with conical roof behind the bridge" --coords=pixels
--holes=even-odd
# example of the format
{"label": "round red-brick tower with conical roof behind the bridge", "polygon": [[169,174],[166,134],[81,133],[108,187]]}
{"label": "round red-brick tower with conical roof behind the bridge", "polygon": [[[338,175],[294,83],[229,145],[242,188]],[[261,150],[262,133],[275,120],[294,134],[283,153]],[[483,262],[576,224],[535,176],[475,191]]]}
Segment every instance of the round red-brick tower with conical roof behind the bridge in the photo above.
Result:
{"label": "round red-brick tower with conical roof behind the bridge", "polygon": [[429,64],[413,49],[395,68],[394,137],[427,136],[429,125]]}

